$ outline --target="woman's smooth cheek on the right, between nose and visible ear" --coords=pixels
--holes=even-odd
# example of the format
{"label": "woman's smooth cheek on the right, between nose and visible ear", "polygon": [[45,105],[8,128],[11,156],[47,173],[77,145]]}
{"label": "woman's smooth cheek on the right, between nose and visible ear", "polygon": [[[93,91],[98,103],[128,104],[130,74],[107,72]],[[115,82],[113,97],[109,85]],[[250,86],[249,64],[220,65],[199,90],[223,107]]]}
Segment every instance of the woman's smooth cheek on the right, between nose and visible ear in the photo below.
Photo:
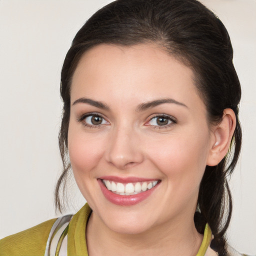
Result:
{"label": "woman's smooth cheek on the right, between nose and visible ear", "polygon": [[208,135],[170,136],[147,146],[148,157],[172,181],[199,184],[203,175],[208,148]]}

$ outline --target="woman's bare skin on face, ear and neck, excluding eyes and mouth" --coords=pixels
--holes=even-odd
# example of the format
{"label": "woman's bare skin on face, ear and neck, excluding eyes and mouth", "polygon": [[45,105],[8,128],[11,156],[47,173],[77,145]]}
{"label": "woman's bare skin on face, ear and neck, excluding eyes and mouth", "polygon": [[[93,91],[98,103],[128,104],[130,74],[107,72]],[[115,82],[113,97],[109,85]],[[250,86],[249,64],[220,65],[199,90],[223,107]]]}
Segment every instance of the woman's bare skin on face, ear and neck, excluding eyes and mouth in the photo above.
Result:
{"label": "woman's bare skin on face, ear and neck, excluding eyes and mouth", "polygon": [[[221,123],[209,124],[193,77],[189,67],[153,44],[101,44],[80,59],[71,83],[68,150],[77,185],[93,210],[86,229],[90,256],[196,254],[202,241],[193,222],[200,180],[206,164],[224,157],[235,117],[226,109]],[[138,110],[166,98],[181,104]],[[90,112],[103,122],[88,126],[90,117],[81,116]],[[158,125],[152,118],[162,114],[175,121]],[[161,182],[142,202],[120,206],[102,194],[103,175]]]}

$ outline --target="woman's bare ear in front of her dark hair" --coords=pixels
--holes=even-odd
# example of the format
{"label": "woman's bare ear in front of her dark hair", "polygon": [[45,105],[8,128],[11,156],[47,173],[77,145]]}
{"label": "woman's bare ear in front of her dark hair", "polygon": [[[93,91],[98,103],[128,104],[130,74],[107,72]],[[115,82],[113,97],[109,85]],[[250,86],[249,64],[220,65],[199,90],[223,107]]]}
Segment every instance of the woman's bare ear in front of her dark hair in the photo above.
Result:
{"label": "woman's bare ear in front of her dark hair", "polygon": [[211,142],[207,165],[215,166],[224,158],[228,151],[235,125],[234,111],[230,108],[224,109],[221,122],[211,127]]}

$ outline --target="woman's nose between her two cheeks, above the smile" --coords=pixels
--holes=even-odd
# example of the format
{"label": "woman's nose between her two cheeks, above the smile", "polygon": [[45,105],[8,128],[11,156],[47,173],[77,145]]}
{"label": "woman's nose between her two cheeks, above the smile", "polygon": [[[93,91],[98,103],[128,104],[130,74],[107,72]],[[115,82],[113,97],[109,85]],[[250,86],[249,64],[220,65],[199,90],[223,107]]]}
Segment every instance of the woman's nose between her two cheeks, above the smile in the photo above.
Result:
{"label": "woman's nose between her two cheeks, above the smile", "polygon": [[118,169],[127,169],[143,161],[139,136],[131,128],[116,128],[109,137],[106,160]]}

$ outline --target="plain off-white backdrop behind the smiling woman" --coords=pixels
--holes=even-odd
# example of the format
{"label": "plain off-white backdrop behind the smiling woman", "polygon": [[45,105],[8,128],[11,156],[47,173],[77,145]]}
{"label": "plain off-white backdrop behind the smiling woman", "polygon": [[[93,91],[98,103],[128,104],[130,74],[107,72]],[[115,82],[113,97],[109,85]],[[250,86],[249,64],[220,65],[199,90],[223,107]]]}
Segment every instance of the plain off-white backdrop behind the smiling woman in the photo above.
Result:
{"label": "plain off-white backdrop behind the smiling woman", "polygon": [[[55,217],[59,80],[76,31],[111,0],[0,0],[0,238]],[[256,253],[256,0],[202,0],[226,25],[242,86],[243,147],[228,241]],[[85,202],[70,184],[70,207]]]}

